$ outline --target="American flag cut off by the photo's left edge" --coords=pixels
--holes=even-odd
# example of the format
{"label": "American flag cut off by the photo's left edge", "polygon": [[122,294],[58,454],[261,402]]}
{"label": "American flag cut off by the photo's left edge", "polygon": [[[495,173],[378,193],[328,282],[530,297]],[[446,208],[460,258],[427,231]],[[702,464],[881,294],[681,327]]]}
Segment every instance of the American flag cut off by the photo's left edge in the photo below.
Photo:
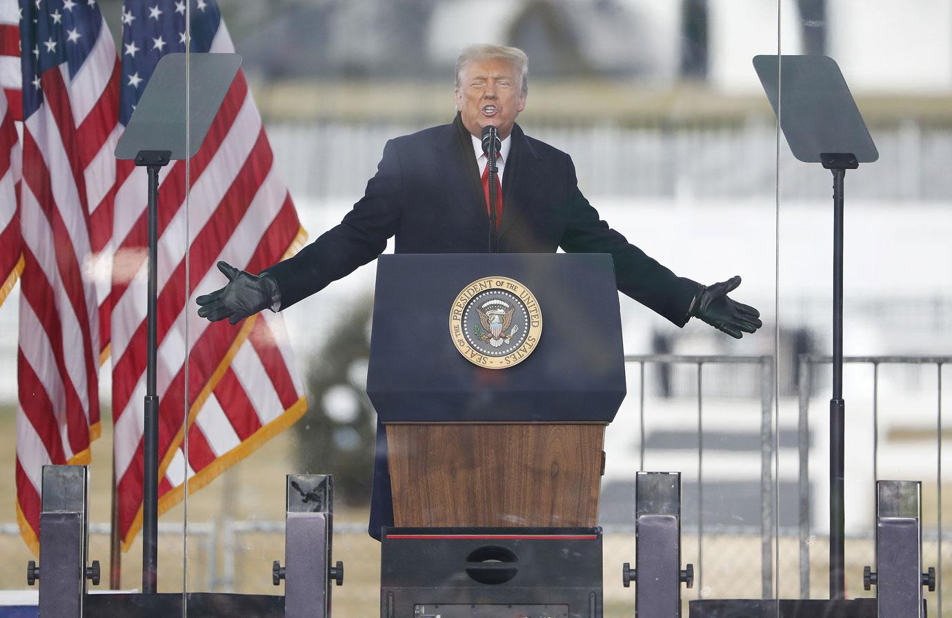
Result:
{"label": "American flag cut off by the photo's left edge", "polygon": [[0,305],[23,270],[20,253],[20,32],[17,0],[0,0]]}

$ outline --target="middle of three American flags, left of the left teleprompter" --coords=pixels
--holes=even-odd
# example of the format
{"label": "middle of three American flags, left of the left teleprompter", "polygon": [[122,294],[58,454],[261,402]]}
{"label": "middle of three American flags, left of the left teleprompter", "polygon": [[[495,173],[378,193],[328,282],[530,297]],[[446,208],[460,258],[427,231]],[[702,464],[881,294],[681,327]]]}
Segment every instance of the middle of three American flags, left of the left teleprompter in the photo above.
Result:
{"label": "middle of three American flags, left of the left teleprompter", "polygon": [[[86,463],[99,433],[118,62],[95,0],[21,0],[23,180],[17,515],[34,550],[44,464]],[[100,277],[100,280],[108,277]]]}

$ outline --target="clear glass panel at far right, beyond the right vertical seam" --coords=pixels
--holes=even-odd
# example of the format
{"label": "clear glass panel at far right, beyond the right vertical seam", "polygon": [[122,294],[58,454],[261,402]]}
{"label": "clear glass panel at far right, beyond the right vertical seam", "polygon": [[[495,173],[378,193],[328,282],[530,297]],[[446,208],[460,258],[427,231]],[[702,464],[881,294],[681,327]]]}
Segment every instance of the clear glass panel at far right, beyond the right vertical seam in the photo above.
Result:
{"label": "clear glass panel at far right, beyond the right vertical seam", "polygon": [[[879,150],[879,160],[861,161],[843,181],[845,593],[877,592],[863,589],[863,567],[877,570],[876,482],[920,481],[922,569],[939,574],[938,589],[922,593],[930,615],[941,615],[948,573],[942,364],[952,329],[949,290],[935,285],[935,276],[950,266],[944,248],[952,194],[944,169],[952,81],[942,26],[950,8],[818,0],[799,3],[792,17],[796,28],[783,30],[783,53],[836,61]],[[791,79],[782,79],[781,90],[792,89]],[[800,428],[799,455],[781,451],[782,473],[800,485],[781,485],[782,504],[800,513],[799,531],[783,535],[789,551],[782,555],[799,556],[784,558],[782,590],[828,598],[833,176],[796,160],[783,138],[780,159],[779,359],[793,387],[781,382],[782,427]]]}

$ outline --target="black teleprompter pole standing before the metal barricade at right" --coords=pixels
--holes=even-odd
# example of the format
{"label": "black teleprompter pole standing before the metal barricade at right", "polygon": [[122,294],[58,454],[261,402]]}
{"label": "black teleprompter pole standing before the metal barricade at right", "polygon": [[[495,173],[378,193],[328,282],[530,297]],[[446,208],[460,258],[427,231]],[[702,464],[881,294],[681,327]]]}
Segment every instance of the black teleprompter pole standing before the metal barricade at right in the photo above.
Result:
{"label": "black teleprompter pole standing before the metal barricade at right", "polygon": [[830,598],[846,598],[845,460],[846,402],[843,401],[843,178],[856,169],[849,153],[823,153],[823,167],[833,173],[833,397],[830,399]]}

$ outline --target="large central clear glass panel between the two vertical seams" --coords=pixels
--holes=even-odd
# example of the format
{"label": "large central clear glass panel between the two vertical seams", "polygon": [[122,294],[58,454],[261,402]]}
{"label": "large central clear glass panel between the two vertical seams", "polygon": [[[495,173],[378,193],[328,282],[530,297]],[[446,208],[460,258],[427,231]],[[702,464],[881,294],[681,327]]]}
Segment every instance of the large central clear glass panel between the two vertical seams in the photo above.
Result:
{"label": "large central clear glass panel between the two vertical seams", "polygon": [[[281,310],[265,309],[234,326],[227,319],[189,322],[188,408],[194,420],[188,431],[189,595],[255,594],[289,603],[286,475],[327,474],[333,477],[333,531],[330,555],[321,564],[334,568],[341,561],[345,573],[343,586],[328,580],[334,615],[391,610],[396,616],[499,615],[500,605],[513,616],[630,615],[637,582],[625,588],[619,574],[624,563],[636,562],[637,474],[661,471],[680,472],[682,479],[680,569],[688,564],[694,569],[693,588],[674,583],[682,613],[689,601],[702,598],[774,598],[777,569],[783,567],[776,556],[778,512],[791,512],[786,504],[778,509],[778,495],[787,492],[778,490],[775,468],[776,175],[772,168],[751,175],[730,154],[744,151],[744,157],[769,162],[775,151],[776,121],[768,101],[762,93],[753,97],[744,91],[760,88],[750,57],[776,50],[776,9],[757,3],[744,3],[744,10],[714,3],[707,8],[704,3],[511,3],[484,17],[482,10],[454,2],[203,4],[204,10],[189,3],[192,51],[226,50],[230,39],[228,50],[241,54],[242,68],[226,96],[223,111],[229,115],[221,123],[221,145],[204,160],[201,150],[190,160],[192,302],[228,282],[215,268],[219,260],[257,275],[345,216],[343,231],[358,229],[367,236],[353,244],[349,234],[335,236],[338,229],[325,239],[327,247],[327,240],[347,237],[334,249],[340,263],[325,258],[313,265],[313,276],[321,281],[317,293],[309,294],[307,286],[288,288],[289,304],[282,303]],[[748,16],[742,27],[743,15]],[[492,32],[472,30],[483,19],[494,24]],[[748,31],[762,32],[763,40],[751,42],[743,55],[724,47],[724,40],[748,38],[739,35]],[[494,76],[485,85],[476,79],[481,75],[467,71],[482,68],[474,60],[454,74],[465,44],[481,40],[526,51],[524,109],[519,71],[508,80]],[[595,40],[610,44],[601,49]],[[199,47],[200,41],[210,47]],[[495,111],[486,111],[487,101]],[[563,231],[528,242],[526,230],[535,231],[530,226],[539,222],[538,233],[544,235],[542,229],[558,221],[565,207],[549,195],[565,199],[562,183],[577,183],[585,202],[574,208],[585,209],[587,216],[590,204],[599,219],[678,276],[711,286],[741,275],[743,284],[730,297],[761,313],[763,327],[736,340],[698,318],[679,328],[692,298],[672,301],[684,305],[677,310],[655,303],[665,318],[624,293],[598,293],[598,299],[615,304],[621,338],[613,345],[620,349],[624,398],[610,422],[588,426],[588,432],[600,434],[596,439],[579,438],[585,474],[594,474],[594,489],[585,492],[586,504],[596,505],[591,521],[531,521],[572,495],[566,491],[560,497],[557,491],[567,488],[561,479],[573,473],[564,449],[574,438],[564,426],[545,429],[554,431],[547,443],[527,435],[513,439],[508,429],[539,429],[531,423],[546,420],[556,404],[575,407],[572,414],[579,418],[563,417],[573,422],[600,405],[594,394],[590,406],[584,396],[575,404],[575,395],[568,394],[585,389],[586,370],[597,368],[609,352],[600,339],[604,319],[592,323],[585,311],[595,298],[592,281],[577,277],[540,288],[545,266],[525,276],[491,268],[469,276],[462,267],[450,268],[455,262],[449,258],[459,256],[436,256],[428,262],[421,257],[416,276],[409,269],[401,278],[387,278],[385,290],[386,260],[371,259],[381,250],[397,253],[386,256],[392,259],[411,257],[400,255],[407,252],[486,251],[489,225],[476,156],[482,145],[466,135],[473,131],[465,122],[464,131],[446,128],[458,106],[461,122],[487,112],[500,126],[520,110],[516,123],[528,137],[516,144],[515,135],[508,141],[501,135],[496,161],[503,252],[555,249]],[[400,138],[439,127],[444,129]],[[473,137],[481,137],[476,129]],[[215,130],[213,124],[209,137]],[[414,140],[436,133],[447,135],[446,143],[413,150]],[[536,150],[527,155],[531,158],[526,144]],[[567,153],[572,168],[553,169],[549,147]],[[391,167],[394,152],[400,169]],[[476,166],[460,163],[468,161],[464,154]],[[219,165],[226,171],[219,173]],[[572,199],[583,198],[573,193]],[[348,215],[355,204],[355,214]],[[200,209],[213,214],[199,214]],[[395,209],[399,221],[388,218]],[[358,216],[361,212],[367,219]],[[222,231],[213,232],[219,219]],[[432,249],[413,245],[419,229],[430,235],[424,246]],[[460,229],[477,240],[459,240]],[[379,235],[394,231],[386,249],[378,244]],[[583,247],[565,238],[566,252]],[[358,260],[358,253],[365,257]],[[358,262],[367,264],[358,267]],[[446,289],[443,279],[429,274],[434,263],[436,272],[446,274]],[[296,264],[294,269],[310,268],[303,260]],[[297,281],[289,268],[269,271],[284,286],[288,277]],[[304,270],[292,274],[309,276]],[[326,277],[340,278],[324,287]],[[483,277],[527,288],[541,309],[539,348],[507,369],[480,370],[454,344],[452,308],[467,286]],[[666,292],[673,296],[675,289]],[[643,300],[650,295],[628,291]],[[385,292],[401,301],[392,310],[383,309],[391,307],[384,304]],[[469,298],[464,300],[469,306]],[[505,295],[498,300],[509,303]],[[514,314],[515,321],[504,327],[506,308],[484,303],[471,304],[459,326],[477,337],[468,349],[493,358],[479,346],[489,352],[507,349],[519,340],[523,324]],[[502,311],[490,312],[496,309]],[[493,333],[498,328],[508,334],[517,325],[520,330],[507,343]],[[530,320],[526,334],[531,327]],[[230,333],[231,345],[208,348],[209,333],[219,331]],[[493,347],[494,339],[504,343]],[[430,417],[404,417],[398,419],[400,429],[387,426],[378,435],[378,413],[388,420],[386,403],[374,390],[374,350],[387,345],[394,365],[387,371],[392,380],[386,392],[380,391],[384,401],[422,392],[426,397],[416,411],[438,412],[441,423],[467,419],[472,410],[496,402],[509,416],[489,419],[502,426],[483,429],[460,423],[427,428],[413,423]],[[523,383],[547,362],[546,347],[578,349],[583,356],[560,357],[558,365],[540,373],[546,381]],[[585,365],[573,367],[572,358]],[[453,376],[463,369],[480,382],[466,383],[461,391]],[[532,407],[533,388],[544,389],[534,396],[538,409]],[[511,415],[508,400],[499,399],[505,389],[522,389],[516,407],[526,402],[526,416]],[[550,405],[552,393],[565,394]],[[443,408],[436,409],[439,405]],[[781,444],[789,449],[796,433],[781,427]],[[398,449],[387,444],[391,439]],[[406,453],[396,470],[399,481],[387,451],[375,455],[381,443],[387,451]],[[383,543],[371,538],[368,522],[379,507],[371,495],[375,467],[400,483],[399,493],[391,485],[388,496],[395,515],[411,508],[414,517],[428,517],[430,523],[421,529],[398,517],[382,528],[374,520],[370,531],[383,532]],[[525,510],[497,500],[512,495],[506,491],[521,483],[519,478],[538,479],[518,486],[524,488]],[[780,478],[788,484],[795,479]],[[550,486],[556,493],[545,494]],[[535,497],[544,494],[555,502]],[[474,513],[486,520],[466,519]],[[584,554],[585,568],[562,572],[560,552],[576,550]],[[280,579],[280,568],[286,579]],[[557,593],[571,586],[584,592],[582,609]],[[432,589],[406,605],[400,590],[427,587]],[[447,588],[458,595],[441,596]],[[532,593],[506,596],[514,588]],[[595,593],[594,608],[587,605],[589,592]]]}

